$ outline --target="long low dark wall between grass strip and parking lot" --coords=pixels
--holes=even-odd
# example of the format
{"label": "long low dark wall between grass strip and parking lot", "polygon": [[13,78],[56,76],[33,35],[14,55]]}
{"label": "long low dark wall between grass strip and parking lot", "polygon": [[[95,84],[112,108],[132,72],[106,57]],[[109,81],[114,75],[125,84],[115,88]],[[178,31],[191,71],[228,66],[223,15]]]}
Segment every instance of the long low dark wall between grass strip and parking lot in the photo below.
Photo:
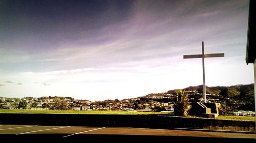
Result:
{"label": "long low dark wall between grass strip and parking lot", "polygon": [[185,118],[162,115],[81,115],[0,113],[0,124],[137,127],[137,128],[196,128],[232,131],[255,131],[254,121]]}

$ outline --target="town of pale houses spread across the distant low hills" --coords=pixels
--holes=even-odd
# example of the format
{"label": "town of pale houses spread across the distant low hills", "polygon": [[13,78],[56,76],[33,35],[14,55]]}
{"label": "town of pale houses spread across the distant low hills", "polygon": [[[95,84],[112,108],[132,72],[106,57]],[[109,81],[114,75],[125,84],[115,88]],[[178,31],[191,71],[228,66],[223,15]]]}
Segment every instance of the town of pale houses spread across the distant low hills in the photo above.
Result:
{"label": "town of pale houses spread across the distant low hills", "polygon": [[[243,85],[246,86],[246,85]],[[248,86],[251,86],[248,85]],[[198,89],[199,90],[191,90]],[[202,102],[200,87],[184,89],[189,95],[189,101]],[[247,98],[229,98],[228,96],[214,94],[214,88],[207,91],[208,103],[221,103],[223,115],[255,116],[253,102]],[[230,88],[229,88],[230,89]],[[211,90],[211,91],[210,91]],[[211,93],[211,94],[210,94]],[[222,92],[223,93],[223,92]],[[230,95],[230,94],[228,94]],[[0,97],[1,109],[31,109],[31,110],[119,110],[119,111],[157,111],[173,112],[173,99],[176,97],[174,90],[165,93],[152,93],[137,98],[122,100],[89,101],[71,97],[45,96],[6,98]]]}

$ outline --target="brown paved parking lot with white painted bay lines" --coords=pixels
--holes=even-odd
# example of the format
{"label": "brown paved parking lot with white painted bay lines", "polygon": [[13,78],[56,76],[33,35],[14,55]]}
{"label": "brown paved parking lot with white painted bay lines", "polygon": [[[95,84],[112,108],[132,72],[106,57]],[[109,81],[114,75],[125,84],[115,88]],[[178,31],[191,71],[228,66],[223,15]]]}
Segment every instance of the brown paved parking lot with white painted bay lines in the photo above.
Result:
{"label": "brown paved parking lot with white painted bay lines", "polygon": [[36,126],[36,125],[0,125],[0,138],[9,139],[197,139],[204,141],[232,140],[256,142],[256,134],[227,133],[191,130],[165,130],[146,128],[112,128],[80,126]]}

